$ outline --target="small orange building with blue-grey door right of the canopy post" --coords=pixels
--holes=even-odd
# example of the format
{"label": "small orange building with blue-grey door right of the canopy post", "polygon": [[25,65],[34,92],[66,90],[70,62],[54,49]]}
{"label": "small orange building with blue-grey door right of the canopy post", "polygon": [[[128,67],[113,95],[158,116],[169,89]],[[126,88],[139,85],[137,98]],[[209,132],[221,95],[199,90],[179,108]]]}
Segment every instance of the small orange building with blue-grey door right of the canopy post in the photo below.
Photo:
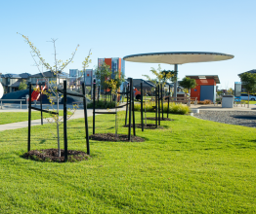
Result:
{"label": "small orange building with blue-grey door right of the canopy post", "polygon": [[200,101],[205,99],[216,101],[216,84],[220,84],[218,75],[192,75],[186,77],[194,79],[197,85],[191,90],[191,97],[197,97],[197,100]]}

